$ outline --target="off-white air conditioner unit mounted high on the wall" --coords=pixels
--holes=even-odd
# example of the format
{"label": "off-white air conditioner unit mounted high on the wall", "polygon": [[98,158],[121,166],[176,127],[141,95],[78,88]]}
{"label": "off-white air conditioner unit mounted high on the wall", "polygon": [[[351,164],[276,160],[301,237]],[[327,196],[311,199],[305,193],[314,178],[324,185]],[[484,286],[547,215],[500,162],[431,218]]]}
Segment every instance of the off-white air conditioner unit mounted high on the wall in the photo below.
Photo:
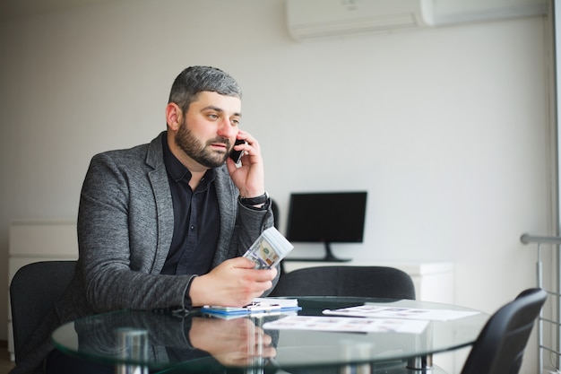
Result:
{"label": "off-white air conditioner unit mounted high on the wall", "polygon": [[294,39],[424,26],[419,0],[287,0]]}

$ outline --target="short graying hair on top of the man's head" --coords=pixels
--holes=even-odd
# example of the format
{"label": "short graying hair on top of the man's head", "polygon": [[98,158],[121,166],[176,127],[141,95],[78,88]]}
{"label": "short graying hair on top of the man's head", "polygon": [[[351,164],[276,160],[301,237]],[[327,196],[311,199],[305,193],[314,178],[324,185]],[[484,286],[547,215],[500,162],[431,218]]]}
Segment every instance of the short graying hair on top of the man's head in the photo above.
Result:
{"label": "short graying hair on top of the man's head", "polygon": [[169,92],[168,103],[175,102],[186,113],[201,91],[242,98],[241,88],[229,74],[216,67],[191,66],[177,75]]}

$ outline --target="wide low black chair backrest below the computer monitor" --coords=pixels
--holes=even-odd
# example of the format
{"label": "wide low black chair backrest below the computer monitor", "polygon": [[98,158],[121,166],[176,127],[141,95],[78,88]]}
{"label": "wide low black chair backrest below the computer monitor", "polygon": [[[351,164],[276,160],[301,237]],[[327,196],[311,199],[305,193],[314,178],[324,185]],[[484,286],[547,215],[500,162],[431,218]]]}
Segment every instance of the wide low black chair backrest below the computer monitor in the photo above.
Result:
{"label": "wide low black chair backrest below the computer monitor", "polygon": [[415,300],[409,274],[386,266],[315,266],[281,274],[271,296],[358,296]]}

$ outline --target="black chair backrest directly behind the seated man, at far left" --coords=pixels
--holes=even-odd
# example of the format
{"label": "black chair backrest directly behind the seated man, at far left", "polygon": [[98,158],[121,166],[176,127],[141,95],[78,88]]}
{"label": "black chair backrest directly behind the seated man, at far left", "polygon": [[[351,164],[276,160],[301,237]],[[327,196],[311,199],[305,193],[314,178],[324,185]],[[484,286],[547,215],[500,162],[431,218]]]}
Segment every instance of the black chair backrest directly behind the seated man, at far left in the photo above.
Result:
{"label": "black chair backrest directly behind the seated man, at far left", "polygon": [[76,261],[41,261],[22,266],[10,283],[13,348],[18,351],[70,283]]}

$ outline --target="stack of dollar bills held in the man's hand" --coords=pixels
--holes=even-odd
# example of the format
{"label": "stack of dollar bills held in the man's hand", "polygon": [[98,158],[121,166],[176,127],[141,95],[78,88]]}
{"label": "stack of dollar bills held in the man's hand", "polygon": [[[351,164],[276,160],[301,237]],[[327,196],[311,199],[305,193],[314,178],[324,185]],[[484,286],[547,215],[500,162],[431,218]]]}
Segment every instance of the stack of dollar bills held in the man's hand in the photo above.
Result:
{"label": "stack of dollar bills held in the man's hand", "polygon": [[294,246],[279,230],[271,227],[264,230],[254,244],[247,249],[244,257],[255,262],[255,269],[270,269],[280,263]]}

